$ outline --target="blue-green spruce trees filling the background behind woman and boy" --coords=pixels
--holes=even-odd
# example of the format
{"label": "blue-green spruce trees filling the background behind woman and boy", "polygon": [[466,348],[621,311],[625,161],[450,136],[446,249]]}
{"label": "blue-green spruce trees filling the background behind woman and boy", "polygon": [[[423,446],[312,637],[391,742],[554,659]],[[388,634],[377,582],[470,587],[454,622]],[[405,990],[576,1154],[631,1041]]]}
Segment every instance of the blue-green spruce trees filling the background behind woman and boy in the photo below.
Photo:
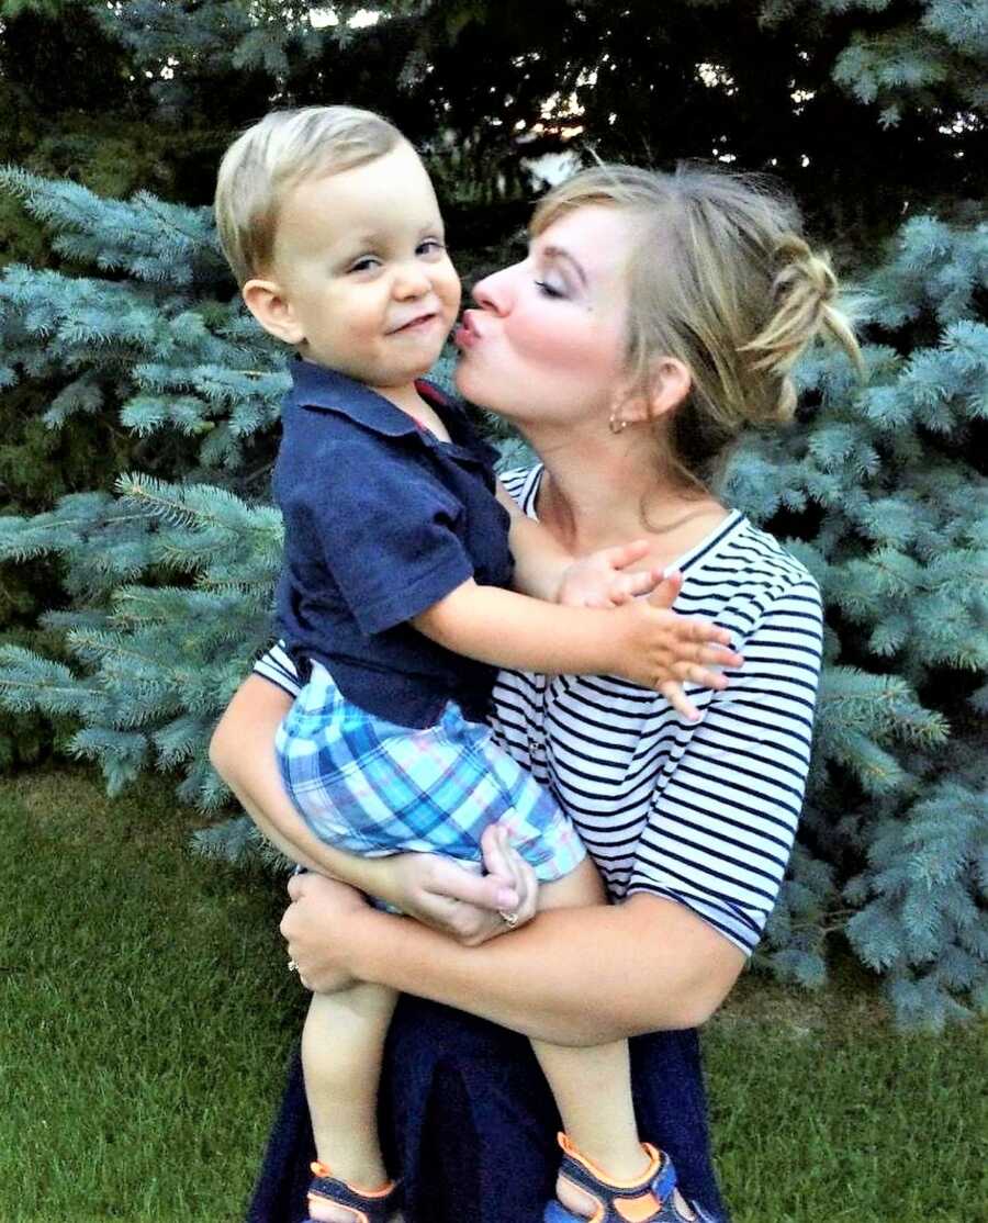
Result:
{"label": "blue-green spruce trees filling the background behind woman and boy", "polygon": [[[32,20],[65,6],[32,6],[46,9]],[[522,157],[559,148],[565,124],[600,155],[713,155],[790,181],[853,272],[868,379],[813,352],[796,426],[748,438],[728,478],[726,498],[787,539],[828,604],[803,832],[762,959],[818,985],[840,936],[885,974],[904,1021],[988,1005],[988,231],[970,203],[988,164],[981,6],[642,2],[619,21],[614,6],[559,0],[526,23],[531,6],[514,0],[410,0],[363,32],[317,29],[290,4],[97,7],[103,37],[153,78],[139,104],[172,133],[190,116],[186,168],[223,143],[199,109],[216,81],[232,130],[258,97],[313,100],[344,71],[347,100],[375,105],[377,79],[470,241],[461,267],[501,257],[528,208]],[[43,618],[64,656],[0,647],[0,702],[67,719],[70,750],[111,789],[176,769],[182,796],[219,812],[205,745],[269,638],[281,526],[267,486],[286,379],[236,302],[209,177],[180,203],[0,174],[37,226],[28,262],[0,276],[5,402],[38,405],[35,445],[88,423],[133,448],[114,492],[72,482],[44,514],[0,508],[0,563],[55,566],[66,592]],[[234,821],[204,841],[236,856],[246,837]]]}

